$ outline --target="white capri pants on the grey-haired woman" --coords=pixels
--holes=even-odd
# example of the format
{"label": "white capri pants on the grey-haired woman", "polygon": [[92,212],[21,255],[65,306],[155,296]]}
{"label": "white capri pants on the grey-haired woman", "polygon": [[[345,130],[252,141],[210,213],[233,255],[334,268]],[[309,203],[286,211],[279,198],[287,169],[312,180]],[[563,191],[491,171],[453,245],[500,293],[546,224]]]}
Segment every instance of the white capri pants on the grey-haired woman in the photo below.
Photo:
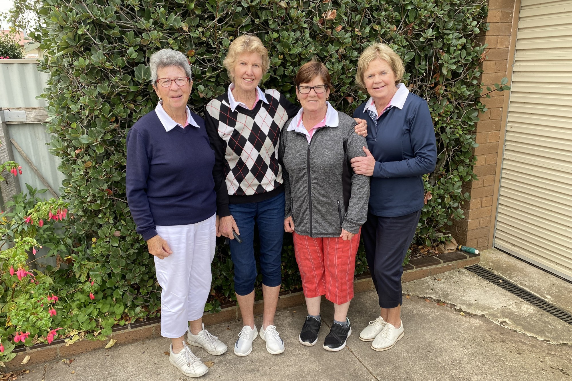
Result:
{"label": "white capri pants on the grey-haired woman", "polygon": [[210,292],[210,263],[215,257],[216,214],[190,225],[157,226],[171,255],[155,257],[155,272],[162,287],[161,336],[176,339],[185,334],[189,320],[202,317]]}

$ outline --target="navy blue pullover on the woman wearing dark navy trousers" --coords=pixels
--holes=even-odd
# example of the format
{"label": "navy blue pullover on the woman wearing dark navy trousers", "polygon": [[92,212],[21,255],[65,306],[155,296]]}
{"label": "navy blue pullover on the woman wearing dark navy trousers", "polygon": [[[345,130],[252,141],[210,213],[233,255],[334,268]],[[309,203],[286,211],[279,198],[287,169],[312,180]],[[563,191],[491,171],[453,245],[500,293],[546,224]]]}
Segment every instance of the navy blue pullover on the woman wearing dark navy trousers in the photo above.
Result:
{"label": "navy blue pullover on the woman wearing dark navy trousers", "polygon": [[427,102],[409,93],[403,109],[391,107],[378,126],[359,105],[353,117],[367,120],[367,145],[375,157],[371,178],[370,213],[405,216],[423,208],[423,174],[435,170],[435,129]]}

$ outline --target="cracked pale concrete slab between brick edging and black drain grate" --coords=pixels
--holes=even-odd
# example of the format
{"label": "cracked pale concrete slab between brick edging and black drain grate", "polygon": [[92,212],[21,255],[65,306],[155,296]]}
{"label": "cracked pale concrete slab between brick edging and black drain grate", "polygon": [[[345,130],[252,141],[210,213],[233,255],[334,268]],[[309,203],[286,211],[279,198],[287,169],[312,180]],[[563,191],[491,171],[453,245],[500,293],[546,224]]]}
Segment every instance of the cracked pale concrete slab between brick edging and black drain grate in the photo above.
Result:
{"label": "cracked pale concrete slab between brick edging and black drain grate", "polygon": [[446,301],[454,304],[457,309],[474,315],[484,315],[494,309],[522,301],[521,298],[466,269],[404,283],[403,292]]}

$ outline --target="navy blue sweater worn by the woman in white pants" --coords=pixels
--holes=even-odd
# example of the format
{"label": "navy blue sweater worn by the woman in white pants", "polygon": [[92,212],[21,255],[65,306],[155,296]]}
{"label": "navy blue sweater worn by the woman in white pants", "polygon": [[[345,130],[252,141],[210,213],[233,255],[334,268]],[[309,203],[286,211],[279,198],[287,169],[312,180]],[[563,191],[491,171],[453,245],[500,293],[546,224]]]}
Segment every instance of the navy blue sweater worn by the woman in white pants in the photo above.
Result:
{"label": "navy blue sweater worn by the woman in white pants", "polygon": [[216,212],[215,152],[204,121],[192,117],[200,128],[166,132],[153,110],[127,134],[127,201],[144,240],[157,235],[156,225],[194,224]]}

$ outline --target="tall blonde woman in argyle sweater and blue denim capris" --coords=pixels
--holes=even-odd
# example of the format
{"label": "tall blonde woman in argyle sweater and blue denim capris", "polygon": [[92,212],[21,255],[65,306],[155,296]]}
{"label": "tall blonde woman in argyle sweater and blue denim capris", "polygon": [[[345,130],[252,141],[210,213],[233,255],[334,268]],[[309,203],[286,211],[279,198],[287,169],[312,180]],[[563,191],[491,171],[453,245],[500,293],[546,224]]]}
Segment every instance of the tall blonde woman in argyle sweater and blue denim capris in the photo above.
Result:
{"label": "tall blonde woman in argyle sweater and blue denim capris", "polygon": [[[232,83],[228,91],[206,106],[205,123],[215,150],[217,235],[230,239],[235,265],[235,293],[244,327],[235,354],[247,356],[258,334],[271,354],[284,352],[284,342],[274,325],[281,284],[284,224],[284,185],[277,160],[277,145],[285,122],[296,115],[294,106],[276,90],[258,86],[268,71],[268,50],[253,35],[237,37],[224,59]],[[362,133],[366,124],[363,123]],[[260,332],[254,321],[254,284],[257,276],[254,227],[260,239],[260,272],[264,317]],[[240,235],[241,243],[234,239]]]}

